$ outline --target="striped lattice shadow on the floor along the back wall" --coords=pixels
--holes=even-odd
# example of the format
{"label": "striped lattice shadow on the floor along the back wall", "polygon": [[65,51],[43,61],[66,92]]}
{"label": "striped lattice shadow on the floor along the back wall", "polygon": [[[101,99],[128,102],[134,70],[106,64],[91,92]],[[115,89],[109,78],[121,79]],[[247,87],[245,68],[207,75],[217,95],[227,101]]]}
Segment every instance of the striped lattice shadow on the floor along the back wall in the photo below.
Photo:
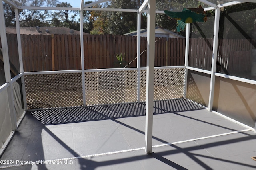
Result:
{"label": "striped lattice shadow on the floor along the back wall", "polygon": [[[154,114],[177,113],[202,109],[188,100],[174,99],[154,102]],[[89,106],[64,109],[46,109],[28,111],[43,125],[56,125],[63,123],[78,123],[85,121],[98,121],[104,119],[117,119],[124,117],[144,116],[145,102],[114,104],[105,106]]]}

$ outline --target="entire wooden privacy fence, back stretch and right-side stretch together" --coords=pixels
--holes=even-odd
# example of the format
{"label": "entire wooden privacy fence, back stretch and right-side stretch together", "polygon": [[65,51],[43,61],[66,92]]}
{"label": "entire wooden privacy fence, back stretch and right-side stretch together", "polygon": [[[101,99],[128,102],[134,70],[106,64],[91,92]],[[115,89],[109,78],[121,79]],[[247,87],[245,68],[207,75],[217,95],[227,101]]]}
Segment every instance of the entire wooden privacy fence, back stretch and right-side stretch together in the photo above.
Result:
{"label": "entire wooden privacy fence, back stretch and right-side stretch together", "polygon": [[[7,34],[9,56],[18,68],[15,34]],[[24,71],[80,70],[80,35],[21,35]],[[183,66],[184,38],[156,38],[155,66]],[[140,66],[146,66],[146,37],[140,39]],[[211,70],[213,39],[190,39],[189,66]],[[253,52],[254,51],[254,52]],[[123,54],[126,68],[136,67],[137,37],[84,35],[84,68],[118,68],[117,54]],[[250,71],[256,62],[255,40],[219,39],[217,71]]]}

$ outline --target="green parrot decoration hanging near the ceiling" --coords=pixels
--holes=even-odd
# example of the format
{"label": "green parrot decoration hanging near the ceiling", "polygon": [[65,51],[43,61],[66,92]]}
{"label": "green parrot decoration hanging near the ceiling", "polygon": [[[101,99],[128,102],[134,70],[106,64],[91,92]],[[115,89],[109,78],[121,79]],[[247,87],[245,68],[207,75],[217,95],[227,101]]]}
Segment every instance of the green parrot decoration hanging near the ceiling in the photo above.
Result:
{"label": "green parrot decoration hanging near the ceiling", "polygon": [[184,8],[182,12],[164,10],[164,13],[177,20],[177,32],[184,30],[186,23],[206,22],[206,12],[200,5],[198,8]]}

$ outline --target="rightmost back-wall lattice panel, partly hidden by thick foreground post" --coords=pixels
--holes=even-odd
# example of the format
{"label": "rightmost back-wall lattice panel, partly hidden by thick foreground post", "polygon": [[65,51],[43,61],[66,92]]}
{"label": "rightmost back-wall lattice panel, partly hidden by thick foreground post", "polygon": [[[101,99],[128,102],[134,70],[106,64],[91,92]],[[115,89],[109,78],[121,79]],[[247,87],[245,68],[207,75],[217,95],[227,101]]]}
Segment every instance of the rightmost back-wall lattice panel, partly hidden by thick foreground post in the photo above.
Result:
{"label": "rightmost back-wall lattice panel, partly hidden by thick foreground post", "polygon": [[[182,98],[184,68],[156,69],[154,71],[154,100]],[[140,101],[146,100],[146,70],[140,72]]]}

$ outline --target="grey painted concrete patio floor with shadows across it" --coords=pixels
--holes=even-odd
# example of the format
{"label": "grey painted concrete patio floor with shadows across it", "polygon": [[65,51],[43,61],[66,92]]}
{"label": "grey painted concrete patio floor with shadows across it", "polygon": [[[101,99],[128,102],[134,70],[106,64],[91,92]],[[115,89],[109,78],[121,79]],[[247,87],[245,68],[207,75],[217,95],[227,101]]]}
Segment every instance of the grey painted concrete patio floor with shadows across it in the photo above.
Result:
{"label": "grey painted concrete patio floor with shadows across it", "polygon": [[154,102],[152,145],[146,154],[144,102],[28,111],[0,169],[256,168],[254,131],[183,98]]}

